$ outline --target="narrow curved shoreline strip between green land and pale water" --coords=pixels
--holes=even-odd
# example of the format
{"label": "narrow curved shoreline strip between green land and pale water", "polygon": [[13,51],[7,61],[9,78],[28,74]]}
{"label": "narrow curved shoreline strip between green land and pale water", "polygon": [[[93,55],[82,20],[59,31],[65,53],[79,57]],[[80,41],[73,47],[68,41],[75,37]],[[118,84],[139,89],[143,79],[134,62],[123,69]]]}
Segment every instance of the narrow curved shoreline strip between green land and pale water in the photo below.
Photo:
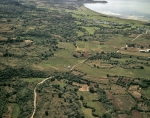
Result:
{"label": "narrow curved shoreline strip between green land and pale water", "polygon": [[[87,3],[85,3],[85,4],[87,4]],[[83,4],[83,7],[85,7],[86,9],[88,9],[92,12],[98,13],[99,15],[106,16],[108,18],[113,17],[113,18],[118,18],[118,19],[122,19],[122,20],[132,20],[132,21],[138,21],[138,22],[141,22],[141,23],[150,23],[150,21],[147,21],[147,20],[140,20],[140,19],[133,19],[133,18],[123,18],[123,17],[119,17],[119,16],[115,16],[115,15],[108,15],[108,14],[100,13],[100,12],[94,11],[94,10],[86,7],[85,4]],[[90,4],[90,3],[88,3],[88,4]]]}

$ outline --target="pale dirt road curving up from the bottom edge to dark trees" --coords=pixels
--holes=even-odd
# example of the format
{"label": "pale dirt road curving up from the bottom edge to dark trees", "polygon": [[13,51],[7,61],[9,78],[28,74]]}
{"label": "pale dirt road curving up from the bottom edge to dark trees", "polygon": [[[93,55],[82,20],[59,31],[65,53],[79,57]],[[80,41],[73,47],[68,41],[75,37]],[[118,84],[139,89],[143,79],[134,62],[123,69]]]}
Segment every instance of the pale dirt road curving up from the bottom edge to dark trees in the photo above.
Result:
{"label": "pale dirt road curving up from the bottom edge to dark trees", "polygon": [[46,79],[42,80],[42,81],[39,82],[39,83],[36,85],[36,87],[34,88],[34,101],[33,101],[33,102],[34,102],[34,110],[33,110],[33,113],[32,113],[31,118],[34,117],[34,114],[35,114],[35,112],[36,112],[36,96],[37,96],[36,88],[37,88],[38,85],[43,84],[46,80],[51,79],[51,78],[52,78],[52,77],[49,77],[49,78],[46,78]]}

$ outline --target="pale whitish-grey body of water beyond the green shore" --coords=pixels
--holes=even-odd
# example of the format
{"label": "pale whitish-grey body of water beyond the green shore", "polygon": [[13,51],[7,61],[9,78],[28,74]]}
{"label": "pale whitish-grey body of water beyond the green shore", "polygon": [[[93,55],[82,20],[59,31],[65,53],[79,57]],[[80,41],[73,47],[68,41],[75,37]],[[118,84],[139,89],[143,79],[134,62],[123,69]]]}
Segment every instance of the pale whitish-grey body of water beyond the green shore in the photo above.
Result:
{"label": "pale whitish-grey body of water beyond the green shore", "polygon": [[150,0],[107,0],[108,3],[86,3],[98,13],[150,22]]}

